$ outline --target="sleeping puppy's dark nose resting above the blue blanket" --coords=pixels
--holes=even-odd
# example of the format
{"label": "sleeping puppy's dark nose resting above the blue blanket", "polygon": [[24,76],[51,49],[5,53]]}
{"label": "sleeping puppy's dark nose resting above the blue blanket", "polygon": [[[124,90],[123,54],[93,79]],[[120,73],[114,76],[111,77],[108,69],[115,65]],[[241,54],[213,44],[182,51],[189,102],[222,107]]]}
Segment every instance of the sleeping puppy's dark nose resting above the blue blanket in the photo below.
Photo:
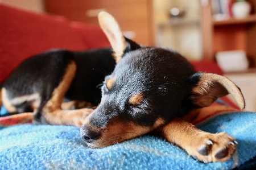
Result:
{"label": "sleeping puppy's dark nose resting above the blue blanket", "polygon": [[100,138],[99,132],[89,130],[85,125],[82,125],[80,128],[80,134],[85,143],[92,143],[94,140]]}

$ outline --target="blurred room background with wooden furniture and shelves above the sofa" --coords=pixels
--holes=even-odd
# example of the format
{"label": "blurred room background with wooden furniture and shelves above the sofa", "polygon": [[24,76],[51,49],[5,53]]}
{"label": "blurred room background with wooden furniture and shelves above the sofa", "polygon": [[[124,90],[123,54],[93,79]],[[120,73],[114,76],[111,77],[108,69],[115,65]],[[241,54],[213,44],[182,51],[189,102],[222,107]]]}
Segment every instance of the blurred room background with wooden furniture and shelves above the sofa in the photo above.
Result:
{"label": "blurred room background with wooden furniture and shelves above the sofa", "polygon": [[218,63],[256,111],[256,0],[0,0],[35,13],[98,25],[108,11],[127,38]]}

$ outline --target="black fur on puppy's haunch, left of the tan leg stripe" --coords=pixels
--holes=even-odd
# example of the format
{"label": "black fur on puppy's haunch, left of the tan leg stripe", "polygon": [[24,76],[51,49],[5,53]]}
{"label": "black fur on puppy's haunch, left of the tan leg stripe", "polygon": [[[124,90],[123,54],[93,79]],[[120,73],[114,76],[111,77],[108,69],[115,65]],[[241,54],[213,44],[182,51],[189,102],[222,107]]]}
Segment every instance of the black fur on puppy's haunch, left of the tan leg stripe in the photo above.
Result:
{"label": "black fur on puppy's haunch, left of the tan leg stripe", "polygon": [[[39,112],[51,97],[64,76],[65,68],[73,59],[69,51],[49,51],[24,60],[3,82],[9,99],[39,93],[42,98]],[[54,74],[53,74],[54,73]],[[49,83],[51,82],[51,83]],[[18,113],[32,111],[31,103],[15,105]]]}

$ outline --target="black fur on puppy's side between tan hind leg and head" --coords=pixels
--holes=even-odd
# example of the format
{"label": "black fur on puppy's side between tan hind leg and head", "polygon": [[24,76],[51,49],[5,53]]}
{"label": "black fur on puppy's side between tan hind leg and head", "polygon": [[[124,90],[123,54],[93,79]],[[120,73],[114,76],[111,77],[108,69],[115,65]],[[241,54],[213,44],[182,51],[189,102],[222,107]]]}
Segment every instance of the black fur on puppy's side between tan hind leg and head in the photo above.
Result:
{"label": "black fur on puppy's side between tan hind leg and head", "polygon": [[82,100],[97,106],[101,101],[101,90],[104,77],[113,72],[115,61],[110,48],[91,51],[74,52],[73,59],[77,65],[77,73],[66,98]]}

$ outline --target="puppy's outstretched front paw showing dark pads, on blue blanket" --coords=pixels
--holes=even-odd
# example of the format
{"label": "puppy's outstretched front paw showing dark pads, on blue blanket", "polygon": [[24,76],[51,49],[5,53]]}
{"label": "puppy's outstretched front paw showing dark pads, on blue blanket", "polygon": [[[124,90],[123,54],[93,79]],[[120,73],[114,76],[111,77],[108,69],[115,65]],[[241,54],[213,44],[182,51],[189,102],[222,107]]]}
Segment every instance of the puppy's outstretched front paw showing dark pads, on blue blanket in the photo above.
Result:
{"label": "puppy's outstretched front paw showing dark pads, on blue blanket", "polygon": [[236,145],[238,144],[225,132],[203,134],[198,139],[197,143],[191,144],[192,147],[188,154],[204,163],[229,160],[236,151]]}

